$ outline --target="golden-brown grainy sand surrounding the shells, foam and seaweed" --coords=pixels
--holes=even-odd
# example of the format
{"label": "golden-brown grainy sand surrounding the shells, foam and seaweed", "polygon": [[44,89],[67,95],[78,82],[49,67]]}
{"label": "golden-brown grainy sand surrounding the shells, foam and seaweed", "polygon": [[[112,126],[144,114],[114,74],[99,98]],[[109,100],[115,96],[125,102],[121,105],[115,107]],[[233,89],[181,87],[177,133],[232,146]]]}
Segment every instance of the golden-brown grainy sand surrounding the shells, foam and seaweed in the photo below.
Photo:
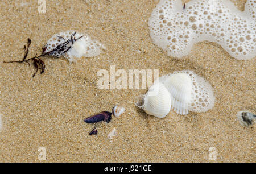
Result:
{"label": "golden-brown grainy sand surrounding the shells, foam and seaweed", "polygon": [[[233,0],[243,10],[245,0]],[[107,50],[77,63],[43,58],[46,72],[23,64],[0,63],[0,161],[35,162],[38,148],[46,148],[46,162],[208,162],[209,148],[217,161],[255,162],[255,127],[243,128],[240,110],[255,110],[255,59],[236,60],[219,45],[202,42],[184,59],[167,56],[151,42],[147,21],[155,1],[48,1],[38,13],[32,0],[0,2],[1,61],[20,60],[27,38],[29,56],[40,53],[53,34],[87,31]],[[99,69],[159,69],[160,76],[191,69],[214,88],[216,104],[207,113],[165,118],[149,116],[134,106],[134,97],[146,90],[100,90]],[[83,119],[110,111],[116,103],[126,113],[110,123],[94,125]],[[113,128],[118,136],[107,135]]]}

